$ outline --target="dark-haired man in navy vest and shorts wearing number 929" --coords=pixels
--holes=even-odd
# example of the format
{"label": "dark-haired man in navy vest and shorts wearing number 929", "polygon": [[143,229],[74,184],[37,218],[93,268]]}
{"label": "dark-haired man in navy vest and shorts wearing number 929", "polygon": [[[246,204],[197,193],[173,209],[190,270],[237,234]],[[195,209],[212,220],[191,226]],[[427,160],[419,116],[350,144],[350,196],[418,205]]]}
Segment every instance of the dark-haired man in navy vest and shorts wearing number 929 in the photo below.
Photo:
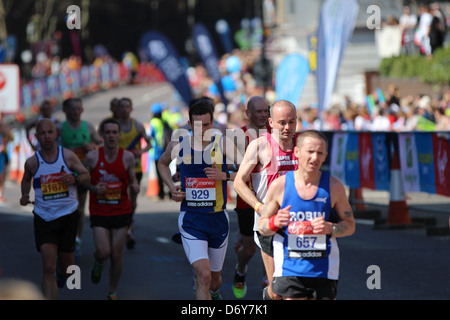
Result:
{"label": "dark-haired man in navy vest and shorts wearing number 929", "polygon": [[[213,105],[200,99],[189,108],[189,127],[171,141],[158,162],[161,177],[181,202],[178,227],[186,256],[196,275],[198,300],[220,299],[221,271],[228,245],[227,181],[234,179],[237,149],[231,139],[214,132]],[[229,152],[232,151],[232,152]],[[231,154],[230,154],[231,153]],[[177,158],[181,186],[172,181],[169,164]],[[239,158],[239,157],[238,157]]]}

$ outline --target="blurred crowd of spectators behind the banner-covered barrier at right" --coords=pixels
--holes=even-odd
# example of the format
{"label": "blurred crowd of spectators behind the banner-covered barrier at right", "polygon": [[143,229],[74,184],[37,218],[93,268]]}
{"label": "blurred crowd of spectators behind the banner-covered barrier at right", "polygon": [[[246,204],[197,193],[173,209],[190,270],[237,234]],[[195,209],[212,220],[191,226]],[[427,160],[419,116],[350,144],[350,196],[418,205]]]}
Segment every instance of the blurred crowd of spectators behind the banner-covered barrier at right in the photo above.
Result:
{"label": "blurred crowd of spectators behind the banner-covered barrier at right", "polygon": [[450,89],[442,97],[400,96],[395,84],[383,98],[376,97],[373,108],[346,99],[322,111],[317,107],[299,109],[297,129],[345,131],[450,131]]}

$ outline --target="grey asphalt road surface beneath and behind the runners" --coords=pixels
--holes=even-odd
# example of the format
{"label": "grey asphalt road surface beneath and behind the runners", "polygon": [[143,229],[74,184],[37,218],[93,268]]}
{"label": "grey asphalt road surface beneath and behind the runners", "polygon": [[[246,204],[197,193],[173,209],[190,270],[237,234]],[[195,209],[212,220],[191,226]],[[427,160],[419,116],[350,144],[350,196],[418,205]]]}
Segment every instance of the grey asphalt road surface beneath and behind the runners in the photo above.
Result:
{"label": "grey asphalt road surface beneath and behind the runners", "polygon": [[[148,107],[156,101],[171,101],[173,93],[167,85],[157,88],[125,87],[98,93],[83,100],[83,118],[93,123],[109,114],[112,97],[131,96],[135,116],[146,121]],[[60,117],[60,119],[64,119]],[[181,245],[171,241],[177,231],[179,204],[171,200],[154,201],[138,198],[135,217],[137,245],[124,249],[124,270],[119,283],[121,300],[192,300],[192,270]],[[42,272],[40,255],[33,238],[32,207],[20,207],[20,188],[7,182],[7,202],[0,205],[0,279],[16,278],[40,286]],[[370,194],[376,194],[370,193]],[[423,195],[422,195],[423,196]],[[425,205],[433,203],[428,196]],[[441,199],[442,200],[442,199]],[[449,208],[450,199],[441,207]],[[234,241],[237,233],[236,214],[229,206],[230,241],[223,269],[222,297],[235,300],[231,283],[236,264]],[[385,210],[384,210],[385,211]],[[382,217],[385,212],[382,211]],[[416,214],[415,214],[416,215]],[[419,212],[425,217],[437,217],[444,225],[448,214]],[[356,232],[339,241],[341,277],[338,285],[340,300],[447,300],[450,299],[450,237],[427,236],[425,228],[375,227],[372,220],[358,220]],[[90,281],[94,246],[92,231],[85,225],[82,256],[76,262],[81,270],[81,287],[59,291],[61,300],[104,300],[108,289],[108,268],[99,284]],[[259,253],[251,260],[244,300],[262,299],[263,265]]]}

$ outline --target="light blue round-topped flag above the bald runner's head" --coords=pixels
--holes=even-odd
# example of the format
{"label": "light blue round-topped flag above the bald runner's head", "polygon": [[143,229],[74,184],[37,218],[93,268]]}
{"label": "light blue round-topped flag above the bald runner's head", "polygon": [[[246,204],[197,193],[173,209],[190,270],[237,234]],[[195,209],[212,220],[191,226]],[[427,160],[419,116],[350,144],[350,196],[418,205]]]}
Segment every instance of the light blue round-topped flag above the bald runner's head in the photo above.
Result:
{"label": "light blue round-topped flag above the bald runner's head", "polygon": [[277,100],[287,100],[297,106],[308,74],[309,63],[305,57],[298,53],[287,55],[275,75]]}

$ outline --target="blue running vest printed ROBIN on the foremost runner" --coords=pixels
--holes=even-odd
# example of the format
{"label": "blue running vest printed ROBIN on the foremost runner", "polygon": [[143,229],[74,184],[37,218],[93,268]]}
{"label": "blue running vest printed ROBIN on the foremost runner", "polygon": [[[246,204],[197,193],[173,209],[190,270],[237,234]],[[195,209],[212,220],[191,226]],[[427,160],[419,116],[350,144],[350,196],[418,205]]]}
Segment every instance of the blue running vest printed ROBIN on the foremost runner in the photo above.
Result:
{"label": "blue running vest printed ROBIN on the foremost runner", "polygon": [[281,208],[291,205],[289,225],[276,233],[274,246],[274,277],[319,277],[337,280],[339,277],[339,248],[336,238],[313,234],[310,221],[324,216],[337,222],[331,208],[330,174],[322,172],[316,195],[303,200],[295,188],[294,171],[286,174]]}

